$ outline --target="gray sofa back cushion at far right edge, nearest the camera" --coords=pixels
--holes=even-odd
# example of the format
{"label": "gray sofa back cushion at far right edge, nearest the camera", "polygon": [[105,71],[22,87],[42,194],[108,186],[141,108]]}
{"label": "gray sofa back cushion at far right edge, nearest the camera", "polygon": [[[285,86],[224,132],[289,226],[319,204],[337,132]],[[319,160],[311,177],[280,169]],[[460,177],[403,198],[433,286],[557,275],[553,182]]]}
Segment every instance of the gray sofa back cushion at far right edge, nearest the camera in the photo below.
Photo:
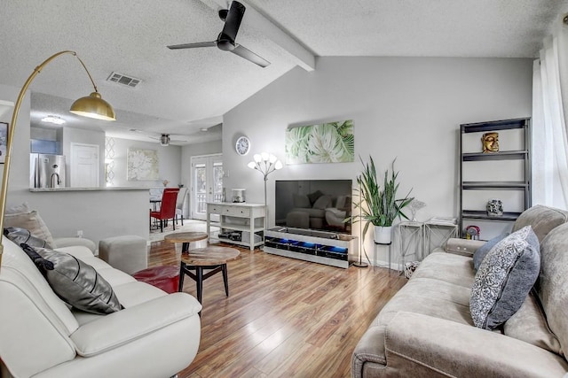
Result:
{"label": "gray sofa back cushion at far right edge, nearest the camera", "polygon": [[548,327],[568,351],[568,223],[550,231],[540,245],[540,276],[535,289]]}

